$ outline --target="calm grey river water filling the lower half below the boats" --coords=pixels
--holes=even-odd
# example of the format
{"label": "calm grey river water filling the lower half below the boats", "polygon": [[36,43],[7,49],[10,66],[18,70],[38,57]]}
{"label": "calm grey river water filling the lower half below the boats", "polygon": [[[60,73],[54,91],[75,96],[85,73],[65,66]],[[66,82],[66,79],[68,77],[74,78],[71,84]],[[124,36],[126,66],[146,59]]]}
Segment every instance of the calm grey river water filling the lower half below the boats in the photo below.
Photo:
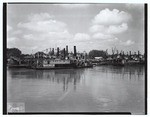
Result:
{"label": "calm grey river water filling the lower half below the boats", "polygon": [[131,112],[144,114],[143,66],[86,69],[8,69],[8,102],[26,112]]}

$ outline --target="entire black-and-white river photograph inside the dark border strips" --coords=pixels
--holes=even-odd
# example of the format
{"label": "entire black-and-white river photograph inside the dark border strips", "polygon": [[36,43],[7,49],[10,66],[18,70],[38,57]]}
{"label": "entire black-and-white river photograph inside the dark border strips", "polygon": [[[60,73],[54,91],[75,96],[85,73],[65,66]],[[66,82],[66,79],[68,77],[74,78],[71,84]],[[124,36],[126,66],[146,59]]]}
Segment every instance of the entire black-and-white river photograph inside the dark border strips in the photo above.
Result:
{"label": "entire black-and-white river photograph inside the dark border strips", "polygon": [[147,113],[144,3],[7,3],[11,113]]}

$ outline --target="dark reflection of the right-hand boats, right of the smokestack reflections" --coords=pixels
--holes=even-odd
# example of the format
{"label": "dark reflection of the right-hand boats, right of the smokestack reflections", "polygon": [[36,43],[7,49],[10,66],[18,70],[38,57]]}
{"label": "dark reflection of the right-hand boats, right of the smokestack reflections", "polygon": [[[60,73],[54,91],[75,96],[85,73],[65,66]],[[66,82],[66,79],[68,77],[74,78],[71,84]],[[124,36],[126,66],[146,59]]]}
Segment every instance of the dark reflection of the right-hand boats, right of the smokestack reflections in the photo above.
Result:
{"label": "dark reflection of the right-hand boats, right of the smokestack reflections", "polygon": [[[143,80],[145,75],[145,66],[101,66],[95,67],[95,71],[105,73],[106,77],[122,80]],[[111,74],[111,76],[109,76]]]}

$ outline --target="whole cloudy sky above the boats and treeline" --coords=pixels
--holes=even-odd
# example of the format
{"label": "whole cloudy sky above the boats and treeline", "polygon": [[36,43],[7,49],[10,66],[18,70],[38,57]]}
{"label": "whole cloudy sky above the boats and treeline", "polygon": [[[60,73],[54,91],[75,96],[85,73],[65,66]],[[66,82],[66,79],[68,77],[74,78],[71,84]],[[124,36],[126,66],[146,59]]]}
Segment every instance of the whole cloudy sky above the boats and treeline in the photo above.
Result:
{"label": "whole cloudy sky above the boats and treeline", "polygon": [[144,52],[143,4],[8,4],[7,47]]}

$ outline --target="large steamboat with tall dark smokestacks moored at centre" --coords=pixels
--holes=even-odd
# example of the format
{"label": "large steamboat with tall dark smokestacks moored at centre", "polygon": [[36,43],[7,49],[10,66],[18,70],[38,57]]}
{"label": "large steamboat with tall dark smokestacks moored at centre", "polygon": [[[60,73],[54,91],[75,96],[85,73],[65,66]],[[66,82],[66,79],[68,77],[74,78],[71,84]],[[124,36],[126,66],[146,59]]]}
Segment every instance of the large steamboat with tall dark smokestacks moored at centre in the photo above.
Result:
{"label": "large steamboat with tall dark smokestacks moored at centre", "polygon": [[[92,63],[86,59],[85,53],[77,53],[74,46],[74,53],[68,53],[68,46],[62,51],[54,48],[50,54],[36,53],[34,61],[30,61],[30,67],[33,69],[70,69],[70,68],[89,68],[93,67]],[[55,53],[55,54],[54,54]],[[50,56],[49,56],[50,55]]]}

